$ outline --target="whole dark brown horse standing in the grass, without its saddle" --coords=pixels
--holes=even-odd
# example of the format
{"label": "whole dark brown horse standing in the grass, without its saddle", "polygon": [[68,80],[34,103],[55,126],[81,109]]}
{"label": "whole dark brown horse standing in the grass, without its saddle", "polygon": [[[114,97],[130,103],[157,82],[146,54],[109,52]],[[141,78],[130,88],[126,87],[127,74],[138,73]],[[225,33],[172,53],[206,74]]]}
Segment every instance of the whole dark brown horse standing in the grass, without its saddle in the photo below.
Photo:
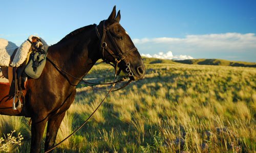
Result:
{"label": "whole dark brown horse standing in the grass, without its saddle", "polygon": [[[131,80],[144,76],[145,67],[134,43],[119,24],[120,11],[114,7],[108,19],[77,29],[48,49],[48,58],[73,77],[82,79],[97,60],[116,63],[125,71],[130,64]],[[73,103],[79,81],[66,75],[49,60],[39,79],[28,79],[25,107],[22,110],[0,109],[0,114],[31,117],[31,152],[40,152],[46,123],[45,150],[54,146],[60,123]],[[126,71],[125,71],[126,72]],[[0,84],[0,108],[12,107],[3,98],[9,86]]]}

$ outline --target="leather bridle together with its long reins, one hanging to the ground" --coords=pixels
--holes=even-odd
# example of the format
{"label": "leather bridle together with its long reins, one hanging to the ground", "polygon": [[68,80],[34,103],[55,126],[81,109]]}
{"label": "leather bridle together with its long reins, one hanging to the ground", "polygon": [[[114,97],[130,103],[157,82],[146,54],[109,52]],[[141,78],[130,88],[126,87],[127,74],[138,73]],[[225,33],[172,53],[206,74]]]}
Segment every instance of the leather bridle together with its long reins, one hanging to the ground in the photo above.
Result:
{"label": "leather bridle together with its long reins, one hanging to the ground", "polygon": [[[94,114],[94,113],[98,110],[98,108],[102,105],[103,101],[105,100],[106,97],[108,97],[108,95],[110,94],[110,92],[114,92],[114,91],[118,91],[118,90],[120,90],[120,89],[123,89],[124,87],[126,87],[127,85],[129,85],[129,84],[132,82],[132,80],[130,79],[124,86],[122,86],[122,87],[120,87],[120,88],[118,88],[118,89],[116,89],[116,90],[113,90],[113,89],[115,88],[115,85],[116,85],[117,83],[121,83],[121,82],[123,82],[125,79],[127,79],[127,78],[129,78],[129,77],[132,77],[132,76],[134,75],[134,73],[131,71],[131,68],[130,68],[130,65],[131,65],[131,64],[126,61],[124,55],[126,55],[126,54],[129,53],[129,52],[134,52],[135,50],[137,50],[136,47],[134,47],[134,48],[128,50],[128,51],[125,52],[125,53],[122,53],[122,52],[119,50],[119,48],[117,47],[117,44],[115,43],[113,37],[111,36],[111,34],[110,34],[110,32],[109,32],[109,30],[110,30],[114,25],[116,25],[116,24],[119,24],[119,23],[118,23],[118,22],[115,22],[115,23],[111,24],[108,28],[105,28],[105,20],[104,20],[104,21],[103,21],[103,35],[102,35],[102,38],[100,37],[100,34],[99,34],[99,32],[98,32],[97,25],[95,24],[95,25],[96,25],[96,26],[95,26],[96,34],[97,34],[97,36],[98,36],[98,38],[99,38],[99,40],[100,40],[100,50],[101,50],[101,52],[102,52],[102,59],[103,59],[104,62],[106,62],[107,64],[112,65],[112,66],[115,68],[115,80],[114,80],[113,82],[111,82],[111,83],[102,83],[102,84],[98,83],[98,84],[96,84],[96,83],[90,83],[90,82],[84,81],[84,80],[82,80],[82,79],[78,79],[78,78],[74,77],[73,75],[69,74],[67,71],[61,69],[59,66],[57,66],[54,62],[52,62],[52,61],[47,57],[47,60],[48,60],[52,65],[54,65],[54,66],[55,66],[56,68],[58,68],[60,71],[62,71],[63,73],[69,75],[69,76],[72,77],[73,79],[78,80],[78,81],[80,81],[80,82],[83,82],[83,83],[87,84],[88,86],[92,87],[93,89],[96,89],[96,90],[99,90],[99,91],[103,91],[103,92],[108,92],[108,93],[106,93],[105,97],[101,100],[101,102],[100,102],[100,104],[98,105],[98,107],[97,107],[97,108],[93,111],[93,113],[86,119],[86,121],[84,121],[84,122],[83,122],[74,132],[72,132],[68,137],[66,137],[65,139],[61,140],[59,143],[57,143],[56,145],[54,145],[51,149],[47,150],[45,153],[52,151],[52,150],[55,149],[57,146],[59,146],[62,142],[64,142],[65,140],[67,140],[68,138],[70,138],[72,135],[74,135],[78,130],[80,130],[80,129],[82,128],[82,126],[84,126],[84,125],[88,122],[88,120],[93,116],[93,114]],[[106,32],[108,33],[108,36],[111,38],[111,42],[112,42],[112,44],[114,45],[116,51],[118,52],[118,55],[115,55],[114,52],[107,46],[106,42],[104,42]],[[32,43],[32,44],[33,44],[33,43]],[[107,50],[107,52],[115,59],[115,62],[116,62],[115,65],[111,64],[108,60],[106,60],[106,59],[104,58],[104,50]],[[125,69],[125,70],[126,70],[126,72],[128,72],[128,74],[127,74],[125,77],[123,77],[122,79],[117,80],[117,79],[118,79],[118,75],[119,75],[120,72],[121,72],[121,69],[120,69],[120,68],[119,68],[119,70],[118,70],[118,64],[119,64],[121,61],[123,61],[123,62],[125,63],[125,66],[126,66],[126,69]],[[92,85],[110,85],[110,84],[112,84],[112,87],[110,88],[109,91],[104,91],[104,90],[101,90],[101,89],[97,89],[97,88],[94,88],[94,87],[92,86]]]}

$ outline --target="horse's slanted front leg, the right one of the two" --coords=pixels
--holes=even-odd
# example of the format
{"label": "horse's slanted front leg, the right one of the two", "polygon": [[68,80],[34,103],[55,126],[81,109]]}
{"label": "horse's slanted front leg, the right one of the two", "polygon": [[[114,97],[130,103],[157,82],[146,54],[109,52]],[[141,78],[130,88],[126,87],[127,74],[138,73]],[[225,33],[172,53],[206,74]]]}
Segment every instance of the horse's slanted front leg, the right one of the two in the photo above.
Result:
{"label": "horse's slanted front leg, the right one of the two", "polygon": [[51,117],[48,120],[47,134],[46,134],[46,141],[45,141],[45,151],[51,149],[54,146],[56,136],[57,136],[57,133],[59,130],[59,126],[60,126],[61,121],[63,120],[65,114],[66,114],[66,111],[59,115]]}

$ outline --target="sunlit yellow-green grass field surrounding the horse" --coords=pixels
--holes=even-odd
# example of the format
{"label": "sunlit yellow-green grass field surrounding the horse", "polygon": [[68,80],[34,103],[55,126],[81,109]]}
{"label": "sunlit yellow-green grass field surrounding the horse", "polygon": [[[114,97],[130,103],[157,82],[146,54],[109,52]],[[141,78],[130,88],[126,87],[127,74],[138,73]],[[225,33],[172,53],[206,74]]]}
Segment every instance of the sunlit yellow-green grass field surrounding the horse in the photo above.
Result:
{"label": "sunlit yellow-green grass field surrounding the horse", "polygon": [[[104,82],[112,75],[110,66],[99,64],[87,78]],[[111,93],[88,124],[55,152],[255,152],[255,76],[256,68],[146,64],[145,79]],[[78,87],[57,142],[105,95]],[[17,152],[29,150],[28,120],[0,116],[2,134],[16,130],[24,136],[22,147],[10,146]]]}

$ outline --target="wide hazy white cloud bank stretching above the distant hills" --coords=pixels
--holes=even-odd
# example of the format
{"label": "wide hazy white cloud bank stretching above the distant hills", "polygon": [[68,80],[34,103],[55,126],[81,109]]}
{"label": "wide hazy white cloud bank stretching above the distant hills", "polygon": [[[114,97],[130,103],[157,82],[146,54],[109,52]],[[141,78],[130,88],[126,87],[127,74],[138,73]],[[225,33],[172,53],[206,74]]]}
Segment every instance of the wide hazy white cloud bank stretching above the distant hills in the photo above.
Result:
{"label": "wide hazy white cloud bank stretching above the distant hills", "polygon": [[[256,62],[256,36],[253,33],[187,35],[184,38],[160,37],[133,39],[140,53],[161,58],[219,58]],[[172,50],[174,55],[160,55]],[[186,56],[186,55],[190,55]]]}

